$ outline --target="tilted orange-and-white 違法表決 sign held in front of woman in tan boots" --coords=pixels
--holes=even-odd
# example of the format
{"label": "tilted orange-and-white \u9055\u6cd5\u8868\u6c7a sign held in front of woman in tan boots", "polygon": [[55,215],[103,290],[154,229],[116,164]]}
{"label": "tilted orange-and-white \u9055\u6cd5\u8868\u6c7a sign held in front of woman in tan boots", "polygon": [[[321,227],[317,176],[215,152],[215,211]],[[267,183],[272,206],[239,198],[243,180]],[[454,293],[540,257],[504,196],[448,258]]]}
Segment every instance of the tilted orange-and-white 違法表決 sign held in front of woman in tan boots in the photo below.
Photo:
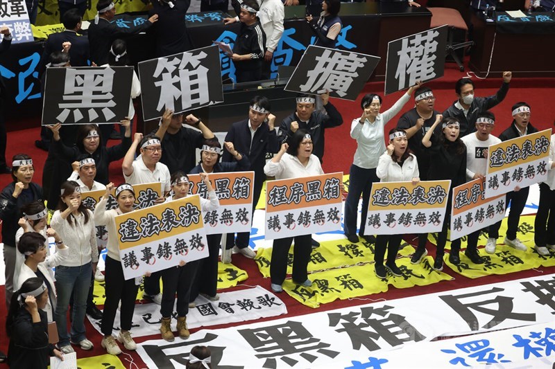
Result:
{"label": "tilted orange-and-white \u9055\u6cd5\u8868\u6c7a sign held in front of woman in tan boots", "polygon": [[117,215],[115,219],[126,280],[208,256],[198,195]]}

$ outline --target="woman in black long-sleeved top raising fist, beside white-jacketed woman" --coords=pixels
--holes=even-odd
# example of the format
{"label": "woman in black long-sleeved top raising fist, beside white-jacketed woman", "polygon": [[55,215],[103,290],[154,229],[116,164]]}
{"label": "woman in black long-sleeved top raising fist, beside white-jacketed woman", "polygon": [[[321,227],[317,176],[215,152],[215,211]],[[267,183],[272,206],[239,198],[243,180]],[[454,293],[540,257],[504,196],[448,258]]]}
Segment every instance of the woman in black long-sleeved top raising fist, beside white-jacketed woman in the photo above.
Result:
{"label": "woman in black long-sleeved top raising fist, beside white-jacketed woman", "polygon": [[[434,129],[441,123],[442,134],[434,135]],[[445,242],[447,242],[447,229],[451,219],[451,197],[452,188],[461,186],[466,183],[466,145],[461,141],[459,136],[461,132],[461,123],[456,118],[443,118],[441,114],[436,115],[436,121],[430,127],[422,138],[422,145],[427,148],[430,155],[430,161],[434,163],[429,167],[428,180],[451,180],[451,189],[447,195],[447,207],[445,217],[443,219],[443,229],[438,234],[436,241],[436,260],[434,260],[434,269],[441,271],[443,269],[443,254]],[[459,250],[461,249],[461,239],[451,242],[451,251],[449,253],[449,262],[451,264],[459,264]],[[416,250],[420,252],[421,250]],[[423,251],[422,251],[423,252]],[[466,253],[470,253],[466,250]],[[477,251],[474,251],[477,253]],[[470,257],[469,257],[470,258]],[[477,260],[479,256],[472,255]]]}

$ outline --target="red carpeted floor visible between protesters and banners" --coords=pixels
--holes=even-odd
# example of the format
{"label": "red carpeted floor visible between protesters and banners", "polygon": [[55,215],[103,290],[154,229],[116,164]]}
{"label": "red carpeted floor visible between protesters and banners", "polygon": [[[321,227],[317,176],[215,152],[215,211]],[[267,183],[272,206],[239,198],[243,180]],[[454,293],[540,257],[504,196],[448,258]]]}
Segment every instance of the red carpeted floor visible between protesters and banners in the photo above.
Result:
{"label": "red carpeted floor visible between protesters and banners", "polygon": [[[429,87],[434,89],[434,94],[436,96],[436,109],[438,111],[443,111],[456,99],[454,94],[454,82],[461,77],[466,76],[466,73],[460,73],[458,69],[454,68],[452,65],[447,64],[445,77],[441,80],[437,80],[429,83]],[[475,80],[476,93],[477,96],[488,96],[497,91],[501,84],[501,76],[495,75],[490,76],[488,80]],[[495,113],[497,118],[497,124],[495,125],[495,131],[493,134],[498,135],[503,129],[509,126],[511,123],[511,106],[518,101],[526,101],[531,105],[532,118],[531,123],[538,129],[547,129],[554,127],[554,110],[552,109],[552,95],[554,92],[555,80],[548,78],[538,78],[538,79],[519,79],[518,75],[515,76],[513,82],[511,82],[511,89],[509,93],[501,104],[495,107],[492,111]],[[383,96],[384,85],[383,83],[373,82],[366,85],[363,93],[360,94],[359,98],[355,102],[337,100],[334,99],[332,102],[343,115],[344,123],[341,127],[334,129],[328,129],[326,132],[326,147],[324,156],[324,170],[325,172],[345,172],[348,173],[350,164],[352,163],[352,156],[355,153],[356,143],[352,138],[350,138],[350,123],[353,118],[358,118],[360,116],[360,100],[364,96],[364,93],[375,92]],[[393,102],[401,96],[401,93],[393,93],[390,96],[384,97],[384,104],[382,109],[388,109],[393,105]],[[407,111],[413,107],[413,101],[411,100],[402,110]],[[400,115],[399,115],[400,116]],[[399,117],[398,116],[398,117]],[[397,123],[398,117],[394,118],[386,126],[386,132],[394,127]],[[8,149],[6,156],[11,158],[13,154],[19,152],[25,152],[33,157],[35,162],[35,181],[39,182],[42,178],[42,163],[46,159],[46,153],[44,151],[38,150],[34,146],[34,141],[39,136],[39,128],[24,129],[21,131],[10,132],[8,134]],[[114,141],[110,141],[113,144]],[[121,162],[112,163],[110,165],[110,179],[114,182],[123,181],[121,175]],[[10,176],[5,174],[0,176],[0,186],[3,188],[7,183],[11,181]],[[433,253],[433,246],[429,245],[429,250]],[[241,255],[234,255],[234,264],[241,269],[245,269],[248,272],[249,278],[246,280],[246,285],[261,285],[262,287],[269,289],[270,282],[262,278],[259,273],[255,262],[252,260],[247,260]],[[478,278],[476,280],[470,280],[459,275],[455,275],[448,268],[445,272],[450,273],[455,279],[448,282],[440,282],[434,285],[429,285],[425,287],[412,287],[410,289],[395,289],[390,288],[389,291],[383,294],[377,294],[372,296],[366,296],[365,298],[357,298],[352,300],[338,300],[334,303],[321,305],[318,310],[328,310],[336,309],[339,307],[347,307],[352,305],[360,305],[363,303],[370,303],[371,300],[378,299],[395,299],[408,296],[418,296],[421,294],[429,294],[438,291],[446,291],[450,289],[456,289],[461,287],[472,287],[475,285],[484,285],[494,282],[502,282],[506,280],[513,280],[518,278],[527,278],[531,276],[536,276],[538,273],[555,273],[555,267],[552,268],[540,268],[529,271],[521,271],[518,273],[512,273],[504,276],[488,276],[484,278]],[[368,273],[373,273],[373,268],[368,267]],[[242,287],[235,287],[242,288]],[[3,287],[0,287],[3,289]],[[289,309],[288,316],[297,316],[301,314],[309,314],[314,312],[314,309],[305,307],[300,303],[290,298],[287,294],[280,294],[280,298],[284,300]],[[3,303],[0,303],[0,315],[6,316],[6,308]],[[278,316],[275,318],[270,318],[268,320],[273,320],[277,318],[282,318],[283,316]],[[3,319],[0,320],[0,324],[3,324]],[[235,325],[240,325],[235,324]],[[215,326],[217,328],[221,326]],[[0,329],[1,332],[1,329]],[[78,350],[78,357],[90,357],[100,354],[104,354],[104,350],[100,347],[101,336],[94,330],[89,323],[87,323],[88,338],[94,343],[94,350],[85,352],[83,350]],[[159,336],[151,336],[146,339],[137,339],[137,343],[145,341],[147,339],[159,339]],[[0,335],[0,350],[7,352],[8,341],[6,336]],[[139,359],[137,354],[133,354],[133,359],[135,363],[139,365],[139,368],[144,368],[144,364]],[[128,367],[128,362],[121,357],[123,364]]]}

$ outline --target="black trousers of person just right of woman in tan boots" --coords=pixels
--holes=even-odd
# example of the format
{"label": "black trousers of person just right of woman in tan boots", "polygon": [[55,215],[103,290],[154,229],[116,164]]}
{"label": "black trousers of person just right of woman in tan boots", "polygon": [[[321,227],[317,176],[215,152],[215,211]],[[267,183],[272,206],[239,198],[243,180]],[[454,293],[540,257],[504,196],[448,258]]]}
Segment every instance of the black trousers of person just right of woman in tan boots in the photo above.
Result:
{"label": "black trousers of person just right of woman in tan boots", "polygon": [[[191,302],[195,300],[199,293],[216,296],[221,235],[207,235],[206,238],[210,254],[207,258],[198,260],[198,271],[191,287]],[[164,289],[166,289],[165,285]]]}

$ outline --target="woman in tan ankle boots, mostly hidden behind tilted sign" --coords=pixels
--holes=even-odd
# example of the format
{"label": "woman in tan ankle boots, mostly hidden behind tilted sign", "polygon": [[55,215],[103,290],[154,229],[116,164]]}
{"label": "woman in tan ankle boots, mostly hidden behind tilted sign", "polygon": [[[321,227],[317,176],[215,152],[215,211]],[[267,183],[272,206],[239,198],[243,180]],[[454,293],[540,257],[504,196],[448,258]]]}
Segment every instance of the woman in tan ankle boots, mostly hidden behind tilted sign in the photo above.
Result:
{"label": "woman in tan ankle boots, mostly hidden behind tilted sign", "polygon": [[[208,180],[208,174],[200,173],[200,178],[205,184],[208,192],[208,200],[200,197],[200,209],[203,213],[216,210],[220,206],[220,201],[216,196],[216,191],[214,191],[214,188],[212,188]],[[189,186],[191,182],[189,182],[187,174],[183,174],[183,172],[173,173],[170,181],[173,195],[169,197],[167,201],[184,199],[189,196]],[[176,307],[178,312],[178,323],[176,329],[180,338],[189,338],[187,313],[189,312],[189,300],[191,300],[191,287],[202,260],[203,259],[194,260],[187,264],[182,261],[179,263],[179,267],[164,269],[162,271],[162,284],[164,285],[164,289],[162,290],[162,306],[160,307],[160,314],[162,314],[160,333],[162,334],[162,339],[166,341],[171,342],[174,339],[173,332],[171,332],[171,316],[173,314],[173,305],[176,302],[176,293],[178,295],[178,304]]]}

